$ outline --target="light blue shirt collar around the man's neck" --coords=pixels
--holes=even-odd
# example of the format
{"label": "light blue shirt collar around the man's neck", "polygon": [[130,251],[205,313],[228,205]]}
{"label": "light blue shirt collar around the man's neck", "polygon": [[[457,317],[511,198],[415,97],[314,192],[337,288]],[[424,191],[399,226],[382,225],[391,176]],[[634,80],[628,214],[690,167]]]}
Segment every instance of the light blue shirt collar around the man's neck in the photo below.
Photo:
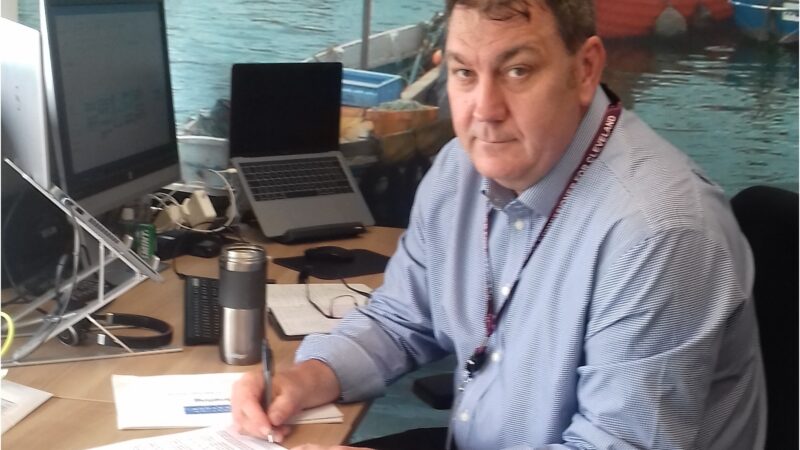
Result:
{"label": "light blue shirt collar around the man's neck", "polygon": [[606,93],[598,87],[592,104],[586,115],[583,116],[567,151],[544,178],[522,191],[519,196],[515,196],[513,191],[500,186],[494,180],[484,177],[481,183],[481,192],[489,200],[490,205],[502,210],[517,200],[539,215],[549,215],[569,182],[572,172],[578,167],[584,152],[589,147],[609,103]]}

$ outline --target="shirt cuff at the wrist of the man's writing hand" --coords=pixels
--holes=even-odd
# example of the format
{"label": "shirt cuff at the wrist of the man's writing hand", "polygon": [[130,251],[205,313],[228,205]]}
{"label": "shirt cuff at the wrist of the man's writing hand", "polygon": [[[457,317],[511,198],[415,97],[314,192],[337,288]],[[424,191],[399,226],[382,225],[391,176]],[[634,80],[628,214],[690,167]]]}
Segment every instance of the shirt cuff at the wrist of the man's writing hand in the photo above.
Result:
{"label": "shirt cuff at the wrist of the man's writing hand", "polygon": [[316,359],[327,364],[339,380],[342,402],[380,397],[386,384],[378,367],[363,348],[345,336],[311,334],[295,353],[295,362]]}

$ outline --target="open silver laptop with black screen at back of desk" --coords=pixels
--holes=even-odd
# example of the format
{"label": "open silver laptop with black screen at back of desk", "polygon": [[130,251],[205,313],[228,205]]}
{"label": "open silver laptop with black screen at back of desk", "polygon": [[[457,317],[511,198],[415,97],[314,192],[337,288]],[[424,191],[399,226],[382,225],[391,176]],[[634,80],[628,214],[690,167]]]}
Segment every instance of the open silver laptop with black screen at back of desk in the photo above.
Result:
{"label": "open silver laptop with black screen at back of desk", "polygon": [[341,152],[340,63],[234,64],[230,152],[262,232],[284,243],[375,223]]}

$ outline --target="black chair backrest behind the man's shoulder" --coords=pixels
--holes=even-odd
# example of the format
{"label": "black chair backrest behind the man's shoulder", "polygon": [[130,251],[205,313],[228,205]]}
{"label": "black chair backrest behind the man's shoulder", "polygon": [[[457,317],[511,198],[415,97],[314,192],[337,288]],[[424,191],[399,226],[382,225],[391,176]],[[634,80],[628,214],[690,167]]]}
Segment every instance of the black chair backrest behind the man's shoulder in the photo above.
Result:
{"label": "black chair backrest behind the man's shoulder", "polygon": [[731,199],[755,260],[756,314],[767,377],[767,449],[798,447],[798,194],[752,186]]}

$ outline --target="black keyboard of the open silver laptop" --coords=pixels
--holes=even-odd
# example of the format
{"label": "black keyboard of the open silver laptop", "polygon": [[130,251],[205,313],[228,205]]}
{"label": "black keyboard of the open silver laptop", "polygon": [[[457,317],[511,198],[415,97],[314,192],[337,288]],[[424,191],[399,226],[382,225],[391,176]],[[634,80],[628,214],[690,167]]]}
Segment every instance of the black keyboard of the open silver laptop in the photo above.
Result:
{"label": "black keyboard of the open silver laptop", "polygon": [[240,167],[256,201],[353,192],[335,156],[242,162]]}

